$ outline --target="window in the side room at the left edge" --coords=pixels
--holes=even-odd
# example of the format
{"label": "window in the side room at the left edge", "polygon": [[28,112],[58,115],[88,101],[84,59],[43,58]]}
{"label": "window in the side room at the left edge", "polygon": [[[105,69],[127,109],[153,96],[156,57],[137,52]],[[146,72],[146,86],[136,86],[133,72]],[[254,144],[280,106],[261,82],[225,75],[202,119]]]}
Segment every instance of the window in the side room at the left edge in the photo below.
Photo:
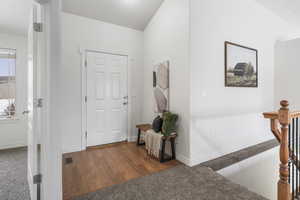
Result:
{"label": "window in the side room at the left edge", "polygon": [[0,48],[0,119],[16,113],[16,50]]}

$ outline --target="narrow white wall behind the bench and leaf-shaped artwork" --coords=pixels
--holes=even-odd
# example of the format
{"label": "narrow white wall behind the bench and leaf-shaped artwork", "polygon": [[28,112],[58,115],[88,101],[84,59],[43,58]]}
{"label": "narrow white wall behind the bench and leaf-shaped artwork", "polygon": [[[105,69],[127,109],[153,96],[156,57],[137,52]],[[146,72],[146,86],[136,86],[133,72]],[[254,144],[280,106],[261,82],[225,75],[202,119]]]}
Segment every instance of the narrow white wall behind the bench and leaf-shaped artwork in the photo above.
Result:
{"label": "narrow white wall behind the bench and leaf-shaped artwork", "polygon": [[189,162],[189,1],[165,0],[144,31],[143,120],[152,123],[155,64],[170,61],[170,110],[179,115],[177,158]]}

